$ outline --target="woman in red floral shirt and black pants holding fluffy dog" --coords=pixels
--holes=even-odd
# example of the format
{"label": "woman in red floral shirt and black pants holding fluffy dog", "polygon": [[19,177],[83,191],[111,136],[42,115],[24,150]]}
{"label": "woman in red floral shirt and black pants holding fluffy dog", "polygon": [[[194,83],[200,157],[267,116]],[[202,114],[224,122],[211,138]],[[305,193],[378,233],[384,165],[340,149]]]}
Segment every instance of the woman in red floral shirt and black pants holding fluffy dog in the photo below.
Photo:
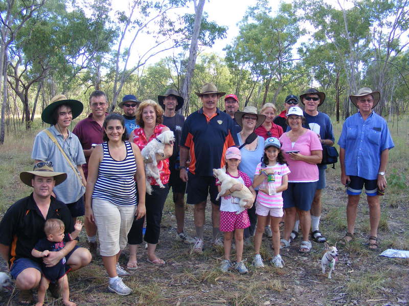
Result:
{"label": "woman in red floral shirt and black pants holding fluffy dog", "polygon": [[[153,100],[143,101],[137,111],[137,123],[140,127],[133,130],[129,140],[133,141],[142,150],[148,142],[154,140],[163,132],[170,131],[169,127],[162,124],[163,109]],[[165,188],[160,188],[154,179],[150,180],[152,193],[146,194],[146,232],[144,240],[148,243],[147,261],[154,265],[164,265],[165,261],[156,256],[156,244],[161,233],[162,211],[166,197],[169,193],[169,157],[172,156],[173,145],[165,145],[165,156],[156,155],[157,168],[160,172],[160,179]],[[138,269],[137,250],[138,244],[142,243],[142,227],[144,220],[135,219],[128,234],[129,260],[127,268],[129,270]]]}

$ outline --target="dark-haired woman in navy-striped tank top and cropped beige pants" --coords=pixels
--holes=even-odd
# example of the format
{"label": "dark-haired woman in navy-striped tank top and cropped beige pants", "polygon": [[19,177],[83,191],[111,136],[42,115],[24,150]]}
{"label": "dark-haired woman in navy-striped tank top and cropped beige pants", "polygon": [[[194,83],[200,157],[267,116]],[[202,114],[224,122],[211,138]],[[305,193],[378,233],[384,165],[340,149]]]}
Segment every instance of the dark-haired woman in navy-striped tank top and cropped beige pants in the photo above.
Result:
{"label": "dark-haired woman in navy-striped tank top and cropped beige pants", "polygon": [[89,158],[85,191],[85,218],[98,227],[100,253],[109,276],[108,289],[120,295],[128,295],[132,290],[119,278],[129,273],[118,264],[118,259],[127,244],[134,217],[142,219],[146,212],[143,158],[138,146],[127,138],[124,117],[108,115],[103,124],[104,143]]}

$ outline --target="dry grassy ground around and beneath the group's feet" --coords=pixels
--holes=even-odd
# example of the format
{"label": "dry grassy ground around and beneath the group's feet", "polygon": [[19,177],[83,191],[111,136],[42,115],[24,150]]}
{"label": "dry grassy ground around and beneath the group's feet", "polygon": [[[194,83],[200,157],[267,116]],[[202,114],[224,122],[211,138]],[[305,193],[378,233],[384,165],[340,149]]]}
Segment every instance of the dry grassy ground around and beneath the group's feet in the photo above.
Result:
{"label": "dry grassy ground around and beneath the group's feet", "polygon": [[[403,120],[402,120],[403,121]],[[379,228],[380,248],[371,251],[365,245],[369,233],[368,207],[362,196],[356,226],[356,239],[347,247],[338,247],[339,262],[332,274],[321,274],[320,260],[323,245],[313,242],[312,251],[298,252],[301,239],[282,251],[283,269],[266,266],[254,269],[253,249],[244,250],[249,273],[234,271],[222,273],[218,267],[223,250],[210,246],[210,214],[205,233],[206,250],[202,255],[192,254],[188,245],[178,243],[175,237],[175,218],[171,195],[168,197],[162,223],[158,254],[165,259],[164,267],[146,262],[146,251],[138,254],[140,268],[125,279],[133,294],[122,297],[109,293],[107,277],[100,258],[80,271],[69,274],[71,299],[78,305],[407,305],[409,304],[409,260],[380,257],[381,250],[409,249],[409,177],[407,121],[400,121],[399,135],[393,130],[396,147],[391,150],[387,178],[387,193],[381,198],[382,217]],[[338,138],[342,124],[334,124]],[[32,167],[31,146],[39,127],[8,138],[0,146],[0,216],[15,200],[29,194],[30,189],[18,178],[18,173]],[[345,188],[339,183],[339,165],[327,170],[327,188],[323,192],[322,232],[334,244],[346,231]],[[194,235],[192,207],[186,211],[186,231]],[[205,234],[205,235],[206,235]],[[85,234],[82,233],[81,245]],[[263,241],[262,256],[271,256],[271,243]],[[127,262],[128,251],[121,263]],[[233,256],[234,258],[234,256]],[[6,271],[0,260],[0,270]],[[0,296],[1,305],[17,305],[15,290]],[[49,298],[49,305],[61,301]]]}

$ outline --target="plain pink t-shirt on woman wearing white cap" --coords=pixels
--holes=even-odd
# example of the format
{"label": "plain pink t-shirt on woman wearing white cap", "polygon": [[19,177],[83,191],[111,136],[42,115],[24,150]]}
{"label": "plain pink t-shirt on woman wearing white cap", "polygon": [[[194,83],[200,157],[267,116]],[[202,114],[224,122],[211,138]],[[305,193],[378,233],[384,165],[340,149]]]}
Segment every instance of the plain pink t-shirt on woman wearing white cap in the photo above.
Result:
{"label": "plain pink t-shirt on woman wearing white cap", "polygon": [[305,156],[311,156],[311,151],[322,150],[320,139],[316,133],[311,130],[307,130],[303,135],[301,135],[294,146],[291,145],[291,140],[284,133],[280,137],[281,150],[284,154],[285,160],[287,161],[288,168],[290,168],[291,173],[288,174],[289,183],[308,183],[318,181],[318,167],[315,164],[309,164],[303,161],[294,161],[290,159],[286,151],[299,150],[300,154]]}

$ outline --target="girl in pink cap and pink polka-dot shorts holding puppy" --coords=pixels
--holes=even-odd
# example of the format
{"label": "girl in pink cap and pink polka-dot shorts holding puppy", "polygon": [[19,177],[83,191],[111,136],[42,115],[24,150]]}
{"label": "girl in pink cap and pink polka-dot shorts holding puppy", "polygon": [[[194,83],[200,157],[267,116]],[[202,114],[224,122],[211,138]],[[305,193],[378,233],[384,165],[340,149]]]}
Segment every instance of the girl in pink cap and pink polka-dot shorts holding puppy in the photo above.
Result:
{"label": "girl in pink cap and pink polka-dot shorts holding puppy", "polygon": [[[230,147],[225,153],[226,159],[226,174],[237,179],[240,183],[233,185],[232,188],[227,190],[221,197],[220,202],[220,232],[224,232],[224,258],[221,263],[220,269],[223,272],[227,272],[229,267],[234,267],[240,274],[247,273],[247,268],[242,261],[243,255],[243,231],[244,228],[250,226],[250,220],[248,219],[247,208],[253,206],[256,192],[252,187],[252,181],[248,175],[238,169],[241,160],[240,150],[237,147]],[[220,192],[220,183],[216,181],[217,188]],[[253,194],[253,199],[250,199],[244,206],[246,208],[240,214],[236,214],[240,210],[239,198],[232,196],[231,194],[236,190],[241,190],[243,185]],[[236,240],[236,264],[232,265],[230,262],[230,251],[232,249],[232,239]]]}

